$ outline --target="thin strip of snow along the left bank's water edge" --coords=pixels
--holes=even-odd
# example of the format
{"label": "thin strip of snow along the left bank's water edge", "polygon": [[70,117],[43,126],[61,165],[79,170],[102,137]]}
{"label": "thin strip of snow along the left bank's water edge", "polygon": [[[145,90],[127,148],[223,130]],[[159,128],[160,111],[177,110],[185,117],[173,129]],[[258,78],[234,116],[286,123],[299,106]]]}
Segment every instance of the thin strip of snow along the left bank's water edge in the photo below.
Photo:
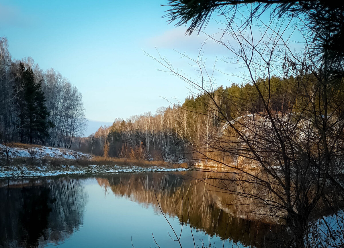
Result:
{"label": "thin strip of snow along the left bank's water edge", "polygon": [[58,170],[51,170],[46,166],[3,166],[0,167],[0,178],[4,177],[46,177],[72,174],[95,174],[95,173],[129,173],[129,172],[170,172],[170,171],[187,171],[187,168],[172,167],[140,167],[140,166],[96,166],[87,167],[61,166]]}

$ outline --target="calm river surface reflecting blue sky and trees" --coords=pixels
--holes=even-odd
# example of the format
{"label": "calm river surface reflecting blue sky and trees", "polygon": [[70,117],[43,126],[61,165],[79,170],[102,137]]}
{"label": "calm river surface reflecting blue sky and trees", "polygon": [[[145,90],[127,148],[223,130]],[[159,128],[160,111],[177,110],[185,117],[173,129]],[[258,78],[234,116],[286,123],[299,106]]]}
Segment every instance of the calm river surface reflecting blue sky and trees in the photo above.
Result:
{"label": "calm river surface reflecting blue sky and trees", "polygon": [[161,210],[183,247],[194,247],[192,234],[196,247],[273,247],[278,225],[229,207],[233,196],[190,176],[0,179],[0,247],[158,247],[152,234],[161,248],[180,247]]}

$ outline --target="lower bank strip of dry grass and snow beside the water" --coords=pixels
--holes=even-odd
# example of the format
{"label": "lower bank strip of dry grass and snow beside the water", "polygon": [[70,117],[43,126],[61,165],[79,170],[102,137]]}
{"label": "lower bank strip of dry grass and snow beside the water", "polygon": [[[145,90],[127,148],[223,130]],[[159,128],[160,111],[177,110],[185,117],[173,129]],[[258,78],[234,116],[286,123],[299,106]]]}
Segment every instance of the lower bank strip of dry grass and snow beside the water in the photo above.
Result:
{"label": "lower bank strip of dry grass and snow beside the water", "polygon": [[98,173],[168,172],[185,171],[187,164],[164,161],[137,161],[119,158],[65,159],[43,157],[33,163],[29,157],[13,158],[10,164],[0,166],[0,178],[45,177],[58,175],[86,175]]}

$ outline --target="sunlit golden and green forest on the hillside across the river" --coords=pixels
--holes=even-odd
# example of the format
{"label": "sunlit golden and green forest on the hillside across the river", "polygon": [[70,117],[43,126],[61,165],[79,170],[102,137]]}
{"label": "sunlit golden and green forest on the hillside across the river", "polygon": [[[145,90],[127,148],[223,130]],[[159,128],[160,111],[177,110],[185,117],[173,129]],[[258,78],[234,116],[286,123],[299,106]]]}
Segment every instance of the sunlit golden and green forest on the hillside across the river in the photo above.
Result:
{"label": "sunlit golden and green forest on the hillside across the river", "polygon": [[[260,79],[257,84],[269,109],[275,113],[303,109],[313,94],[310,92],[312,75],[308,74],[288,78],[273,76]],[[343,91],[337,89],[337,92]],[[100,127],[79,145],[84,152],[95,155],[108,153],[131,159],[177,161],[205,155],[228,161],[230,155],[213,151],[211,141],[221,135],[227,120],[264,109],[264,102],[254,85],[220,86],[212,92],[189,96],[180,105],[160,108],[155,114],[149,112],[128,120],[116,119],[112,126]]]}

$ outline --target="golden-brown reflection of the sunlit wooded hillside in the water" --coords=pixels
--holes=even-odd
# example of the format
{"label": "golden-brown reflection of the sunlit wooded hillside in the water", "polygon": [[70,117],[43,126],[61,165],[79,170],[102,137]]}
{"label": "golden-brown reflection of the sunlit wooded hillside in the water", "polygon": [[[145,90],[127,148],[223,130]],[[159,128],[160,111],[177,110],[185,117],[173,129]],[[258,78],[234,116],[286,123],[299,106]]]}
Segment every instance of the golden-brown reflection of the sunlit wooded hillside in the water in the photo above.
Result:
{"label": "golden-brown reflection of the sunlit wooded hillside in the water", "polygon": [[240,241],[247,246],[275,247],[278,239],[285,235],[281,235],[280,225],[259,221],[259,216],[252,217],[254,213],[244,213],[243,206],[234,206],[234,198],[228,193],[201,181],[183,180],[190,178],[190,173],[194,172],[122,174],[97,178],[97,181],[106,193],[111,190],[115,195],[147,206],[153,204],[160,211],[152,185],[154,181],[164,214],[178,216],[180,222],[186,223],[189,206],[191,226],[211,236]]}

